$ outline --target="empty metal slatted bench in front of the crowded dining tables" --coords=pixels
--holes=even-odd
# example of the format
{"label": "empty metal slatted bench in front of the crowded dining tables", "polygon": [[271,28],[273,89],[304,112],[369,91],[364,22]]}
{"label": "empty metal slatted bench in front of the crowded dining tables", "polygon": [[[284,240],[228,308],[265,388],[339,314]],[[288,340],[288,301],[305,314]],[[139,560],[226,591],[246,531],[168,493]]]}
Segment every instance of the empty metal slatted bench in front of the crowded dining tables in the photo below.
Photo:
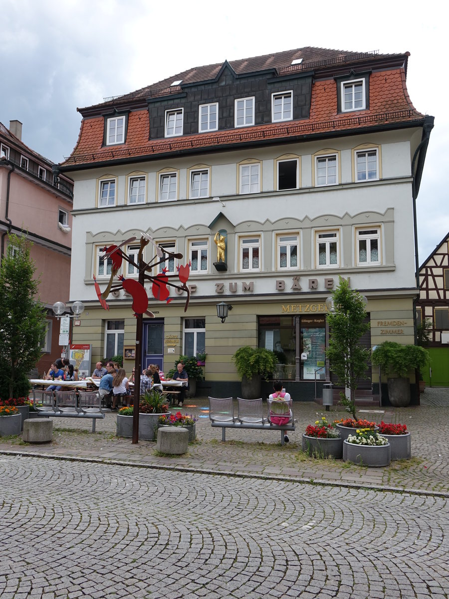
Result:
{"label": "empty metal slatted bench in front of the crowded dining tables", "polygon": [[[33,389],[33,403],[39,415],[48,418],[90,418],[95,432],[97,418],[104,419],[101,398],[97,391],[40,391]],[[42,404],[37,406],[37,404]]]}

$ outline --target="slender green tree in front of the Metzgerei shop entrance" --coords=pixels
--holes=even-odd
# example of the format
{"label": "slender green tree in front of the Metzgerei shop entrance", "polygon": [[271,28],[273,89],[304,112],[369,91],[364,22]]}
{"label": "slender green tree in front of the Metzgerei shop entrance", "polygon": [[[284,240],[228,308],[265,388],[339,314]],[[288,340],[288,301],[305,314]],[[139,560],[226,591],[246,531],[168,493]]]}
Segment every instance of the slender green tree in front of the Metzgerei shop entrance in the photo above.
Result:
{"label": "slender green tree in front of the Metzgerei shop entrance", "polygon": [[329,346],[326,350],[330,370],[340,385],[350,389],[350,398],[340,394],[342,404],[356,418],[355,392],[357,379],[363,376],[369,360],[369,350],[359,345],[360,337],[369,331],[365,322],[365,301],[358,291],[351,289],[347,280],[339,277],[332,292],[333,311],[327,314]]}

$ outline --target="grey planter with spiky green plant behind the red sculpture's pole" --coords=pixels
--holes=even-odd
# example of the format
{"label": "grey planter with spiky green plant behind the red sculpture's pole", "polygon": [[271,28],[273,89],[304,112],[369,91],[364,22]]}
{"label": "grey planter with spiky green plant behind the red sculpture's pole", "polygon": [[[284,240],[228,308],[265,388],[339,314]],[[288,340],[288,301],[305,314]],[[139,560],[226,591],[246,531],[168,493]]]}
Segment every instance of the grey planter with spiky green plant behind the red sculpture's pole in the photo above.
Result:
{"label": "grey planter with spiky green plant behind the red sculpture's pole", "polygon": [[[140,396],[139,403],[139,439],[153,441],[156,438],[159,416],[168,412],[163,395],[151,389]],[[133,409],[122,408],[117,414],[117,437],[132,437]]]}

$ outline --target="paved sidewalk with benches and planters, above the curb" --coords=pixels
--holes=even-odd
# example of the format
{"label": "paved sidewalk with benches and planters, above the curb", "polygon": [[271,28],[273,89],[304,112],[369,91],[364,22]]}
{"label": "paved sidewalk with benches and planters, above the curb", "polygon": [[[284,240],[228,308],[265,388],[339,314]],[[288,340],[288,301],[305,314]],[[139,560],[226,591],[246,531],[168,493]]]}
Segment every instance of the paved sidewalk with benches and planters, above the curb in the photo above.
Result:
{"label": "paved sidewalk with benches and planters, above the curb", "polygon": [[332,407],[330,412],[325,412],[314,403],[295,402],[298,425],[289,435],[290,443],[281,446],[280,432],[248,429],[227,429],[226,443],[222,443],[222,429],[211,427],[207,405],[207,398],[195,398],[191,403],[187,401],[181,410],[198,417],[197,440],[182,456],[160,456],[156,443],[140,441],[133,445],[130,439],[116,437],[116,413],[97,420],[95,434],[89,432],[90,420],[53,419],[52,443],[31,445],[23,443],[20,437],[0,438],[0,453],[449,495],[449,389],[426,389],[418,407],[357,411],[360,418],[405,423],[411,432],[412,459],[392,462],[385,468],[313,459],[302,453],[301,435],[305,426],[321,415],[328,419],[341,418],[345,416],[342,409]]}

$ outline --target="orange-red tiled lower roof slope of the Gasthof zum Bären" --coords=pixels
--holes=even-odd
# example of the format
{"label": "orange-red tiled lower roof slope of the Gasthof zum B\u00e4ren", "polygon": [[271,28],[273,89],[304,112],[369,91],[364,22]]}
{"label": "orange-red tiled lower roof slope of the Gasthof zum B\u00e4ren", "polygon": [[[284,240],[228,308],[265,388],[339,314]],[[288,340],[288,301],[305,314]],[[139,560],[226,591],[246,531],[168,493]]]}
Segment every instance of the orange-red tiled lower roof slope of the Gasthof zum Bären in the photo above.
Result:
{"label": "orange-red tiled lower roof slope of the Gasthof zum B\u00e4ren", "polygon": [[136,110],[129,113],[126,143],[104,147],[104,117],[86,118],[81,122],[77,146],[63,165],[120,161],[128,157],[163,155],[174,151],[201,150],[260,140],[281,141],[326,132],[354,130],[356,133],[357,129],[396,123],[416,122],[418,126],[422,120],[423,115],[410,102],[404,69],[398,68],[372,73],[369,80],[369,109],[351,113],[337,113],[336,83],[333,79],[326,79],[315,81],[310,118],[302,120],[148,141],[148,110]]}

